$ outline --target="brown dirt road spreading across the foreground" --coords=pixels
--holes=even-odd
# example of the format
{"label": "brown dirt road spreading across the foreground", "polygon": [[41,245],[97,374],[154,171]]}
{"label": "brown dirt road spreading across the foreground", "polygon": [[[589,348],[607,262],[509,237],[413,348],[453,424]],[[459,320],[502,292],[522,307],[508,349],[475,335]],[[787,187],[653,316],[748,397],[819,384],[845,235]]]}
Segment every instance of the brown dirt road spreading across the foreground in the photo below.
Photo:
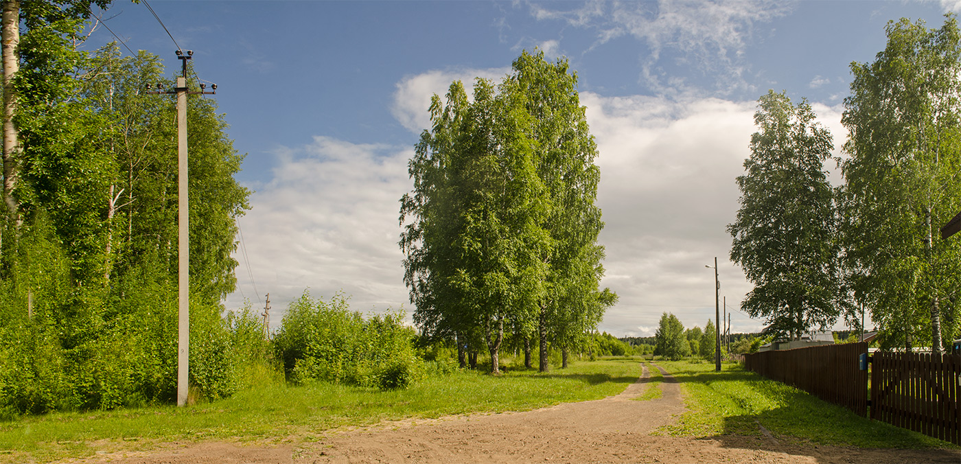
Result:
{"label": "brown dirt road spreading across the foreground", "polygon": [[[657,368],[660,369],[660,368]],[[861,450],[788,444],[774,437],[692,439],[651,435],[684,411],[680,386],[663,370],[663,396],[634,401],[648,368],[620,395],[528,412],[403,421],[332,431],[296,447],[208,443],[82,462],[124,464],[287,463],[961,463],[961,452]]]}

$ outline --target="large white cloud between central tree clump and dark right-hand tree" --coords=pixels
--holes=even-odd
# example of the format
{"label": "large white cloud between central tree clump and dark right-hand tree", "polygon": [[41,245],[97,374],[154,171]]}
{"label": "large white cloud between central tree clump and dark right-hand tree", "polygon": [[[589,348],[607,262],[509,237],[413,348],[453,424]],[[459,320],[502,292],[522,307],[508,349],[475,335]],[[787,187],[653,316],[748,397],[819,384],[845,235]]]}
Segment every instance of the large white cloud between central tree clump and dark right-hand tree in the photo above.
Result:
{"label": "large white cloud between central tree clump and dark right-hand tree", "polygon": [[[738,307],[750,285],[727,261],[726,226],[738,208],[734,179],[749,154],[753,103],[587,92],[581,102],[600,152],[603,285],[621,297],[600,329],[647,335],[642,328],[656,327],[664,311],[703,327],[714,319],[714,273],[704,268],[714,256],[722,294]],[[733,320],[735,330],[760,327]]]}

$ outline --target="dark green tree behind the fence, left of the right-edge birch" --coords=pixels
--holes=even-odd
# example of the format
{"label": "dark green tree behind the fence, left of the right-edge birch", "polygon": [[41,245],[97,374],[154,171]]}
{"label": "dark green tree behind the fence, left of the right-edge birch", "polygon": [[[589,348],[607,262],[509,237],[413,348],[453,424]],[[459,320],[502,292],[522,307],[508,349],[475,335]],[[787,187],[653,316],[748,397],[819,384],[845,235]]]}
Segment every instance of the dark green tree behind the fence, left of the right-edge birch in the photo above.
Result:
{"label": "dark green tree behind the fence, left of the right-edge birch", "polygon": [[727,226],[730,257],[754,288],[741,307],[792,338],[832,325],[845,298],[837,214],[824,162],[831,135],[806,101],[769,91],[754,113],[747,171],[737,178],[741,208]]}

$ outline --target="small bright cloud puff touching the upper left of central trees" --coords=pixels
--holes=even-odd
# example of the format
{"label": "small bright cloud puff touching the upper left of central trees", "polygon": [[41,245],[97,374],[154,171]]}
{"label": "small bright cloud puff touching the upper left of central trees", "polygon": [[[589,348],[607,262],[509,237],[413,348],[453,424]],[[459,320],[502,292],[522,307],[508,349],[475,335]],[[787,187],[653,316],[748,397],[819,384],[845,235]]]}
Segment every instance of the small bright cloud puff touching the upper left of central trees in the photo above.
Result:
{"label": "small bright cloud puff touching the upper left of central trees", "polygon": [[470,95],[476,78],[500,81],[509,68],[432,70],[415,76],[408,76],[397,83],[391,112],[397,121],[414,134],[420,134],[431,127],[431,96],[437,94],[444,99],[448,88],[454,81],[460,81]]}

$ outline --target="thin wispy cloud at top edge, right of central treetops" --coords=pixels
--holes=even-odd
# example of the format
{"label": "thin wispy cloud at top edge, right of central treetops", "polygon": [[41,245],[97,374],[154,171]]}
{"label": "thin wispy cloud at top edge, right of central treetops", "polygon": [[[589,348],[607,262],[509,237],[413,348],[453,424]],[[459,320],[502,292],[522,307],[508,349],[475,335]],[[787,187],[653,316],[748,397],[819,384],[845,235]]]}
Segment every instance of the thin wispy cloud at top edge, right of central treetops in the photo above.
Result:
{"label": "thin wispy cloud at top edge, right of central treetops", "polygon": [[[664,65],[683,65],[710,76],[715,90],[748,88],[743,56],[754,26],[786,14],[791,6],[768,0],[744,2],[673,1],[589,2],[575,10],[553,10],[554,4],[531,4],[539,20],[565,21],[572,27],[594,30],[591,48],[617,37],[634,37],[647,46],[640,57],[640,79],[659,93],[688,83]],[[670,61],[665,61],[671,55]]]}

